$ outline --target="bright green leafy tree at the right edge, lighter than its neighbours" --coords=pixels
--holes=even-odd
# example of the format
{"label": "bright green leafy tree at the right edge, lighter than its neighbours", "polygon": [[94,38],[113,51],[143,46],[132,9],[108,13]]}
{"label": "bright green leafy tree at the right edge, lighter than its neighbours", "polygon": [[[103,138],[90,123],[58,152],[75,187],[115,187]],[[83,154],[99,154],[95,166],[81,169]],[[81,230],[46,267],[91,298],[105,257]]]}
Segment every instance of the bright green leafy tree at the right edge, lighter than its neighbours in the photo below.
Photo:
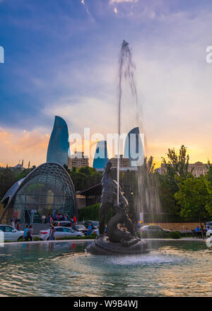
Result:
{"label": "bright green leafy tree at the right edge, lighter than its neighbours", "polygon": [[[182,207],[180,216],[188,218],[192,217],[201,223],[209,216],[209,209],[206,208],[210,196],[206,177],[194,177],[191,175],[186,180],[182,177],[177,177],[179,191],[175,194],[177,204]],[[212,215],[212,213],[211,213]]]}

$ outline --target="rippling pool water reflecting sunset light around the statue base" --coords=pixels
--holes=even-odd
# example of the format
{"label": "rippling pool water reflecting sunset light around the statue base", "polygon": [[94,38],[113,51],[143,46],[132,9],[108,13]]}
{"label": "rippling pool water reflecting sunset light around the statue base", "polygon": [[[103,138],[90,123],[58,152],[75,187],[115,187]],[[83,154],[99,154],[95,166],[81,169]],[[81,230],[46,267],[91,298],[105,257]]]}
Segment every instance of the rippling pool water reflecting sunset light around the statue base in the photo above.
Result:
{"label": "rippling pool water reflecting sunset light around the statue base", "polygon": [[0,247],[1,296],[212,296],[204,242],[152,241],[150,254],[102,257],[88,243]]}

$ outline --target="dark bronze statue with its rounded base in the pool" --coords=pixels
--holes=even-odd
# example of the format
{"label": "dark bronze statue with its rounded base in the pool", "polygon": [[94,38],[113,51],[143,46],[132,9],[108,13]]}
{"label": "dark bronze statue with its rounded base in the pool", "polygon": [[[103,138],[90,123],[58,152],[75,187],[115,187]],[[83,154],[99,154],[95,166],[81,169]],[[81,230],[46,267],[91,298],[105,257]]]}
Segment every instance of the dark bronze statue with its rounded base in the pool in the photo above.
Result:
{"label": "dark bronze statue with its rounded base in the pool", "polygon": [[[119,205],[117,204],[117,189],[119,187]],[[112,211],[112,217],[105,224]],[[95,239],[87,251],[92,254],[141,254],[147,252],[146,242],[141,241],[135,232],[129,217],[129,204],[122,194],[121,187],[112,178],[112,163],[105,165],[102,173],[102,196],[100,204],[100,236]]]}

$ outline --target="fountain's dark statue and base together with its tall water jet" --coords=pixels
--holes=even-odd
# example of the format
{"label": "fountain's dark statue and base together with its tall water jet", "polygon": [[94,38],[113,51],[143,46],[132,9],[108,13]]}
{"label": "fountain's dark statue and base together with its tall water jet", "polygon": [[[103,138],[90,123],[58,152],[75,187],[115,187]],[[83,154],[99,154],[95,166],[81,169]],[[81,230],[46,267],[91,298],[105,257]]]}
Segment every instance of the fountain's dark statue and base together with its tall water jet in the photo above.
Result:
{"label": "fountain's dark statue and base together with its tall water jet", "polygon": [[[122,80],[126,78],[131,93],[136,98],[134,65],[131,61],[129,44],[123,40],[119,59],[119,100],[118,134],[121,134]],[[118,155],[120,155],[120,141]],[[112,178],[112,163],[105,165],[102,173],[102,196],[100,205],[100,235],[87,247],[91,254],[143,254],[148,252],[145,241],[136,236],[135,225],[129,216],[129,204],[119,186],[119,157],[117,161],[117,182]],[[116,203],[117,201],[117,203]],[[107,222],[107,235],[104,235],[106,220],[112,210],[112,217]]]}

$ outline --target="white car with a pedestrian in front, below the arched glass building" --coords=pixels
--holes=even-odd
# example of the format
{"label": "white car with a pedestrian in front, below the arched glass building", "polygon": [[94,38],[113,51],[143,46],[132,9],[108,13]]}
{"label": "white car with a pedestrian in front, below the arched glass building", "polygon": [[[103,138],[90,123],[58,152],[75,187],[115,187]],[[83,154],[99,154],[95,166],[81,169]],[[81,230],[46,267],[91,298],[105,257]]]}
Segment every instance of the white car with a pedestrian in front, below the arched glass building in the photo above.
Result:
{"label": "white car with a pedestrian in front, below the arched glass building", "polygon": [[[54,238],[57,240],[59,237],[83,237],[84,234],[78,231],[75,231],[71,228],[67,227],[55,227],[55,233],[54,233]],[[49,240],[49,234],[50,234],[51,229],[47,230],[40,230],[40,233],[38,237],[40,237],[40,240]]]}

